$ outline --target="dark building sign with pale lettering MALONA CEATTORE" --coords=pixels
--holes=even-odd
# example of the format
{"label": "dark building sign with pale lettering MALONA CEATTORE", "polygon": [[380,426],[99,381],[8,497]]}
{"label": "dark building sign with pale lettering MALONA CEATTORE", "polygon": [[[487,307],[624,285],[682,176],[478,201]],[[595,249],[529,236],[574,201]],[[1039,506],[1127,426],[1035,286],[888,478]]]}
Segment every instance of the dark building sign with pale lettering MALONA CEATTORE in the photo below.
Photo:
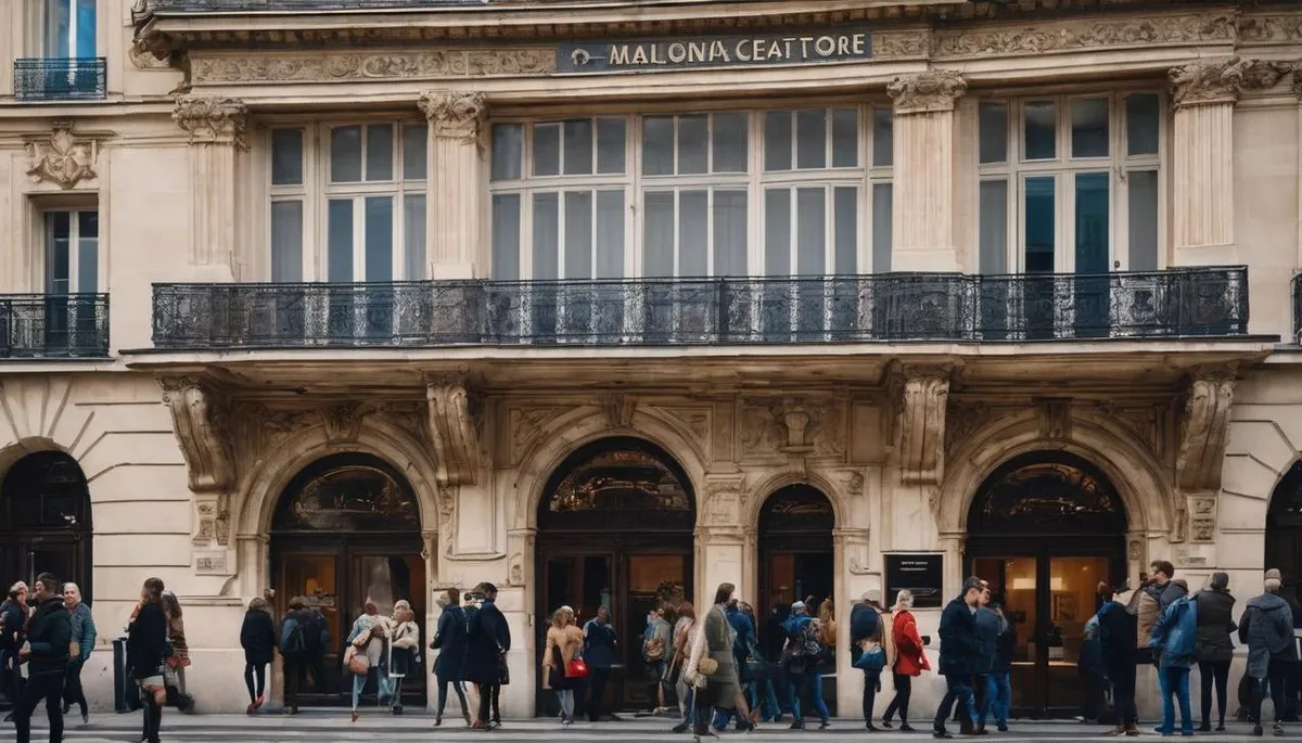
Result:
{"label": "dark building sign with pale lettering MALONA CEATTORE", "polygon": [[867,30],[763,34],[695,39],[642,39],[561,44],[559,73],[690,70],[729,66],[807,65],[872,59]]}

